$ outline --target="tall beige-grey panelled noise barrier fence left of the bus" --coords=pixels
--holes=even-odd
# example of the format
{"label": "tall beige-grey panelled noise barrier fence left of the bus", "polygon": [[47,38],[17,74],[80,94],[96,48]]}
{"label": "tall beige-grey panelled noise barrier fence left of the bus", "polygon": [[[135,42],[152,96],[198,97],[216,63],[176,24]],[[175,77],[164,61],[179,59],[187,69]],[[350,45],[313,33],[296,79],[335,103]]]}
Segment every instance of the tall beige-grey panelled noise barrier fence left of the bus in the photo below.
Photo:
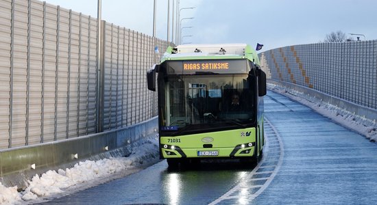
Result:
{"label": "tall beige-grey panelled noise barrier fence left of the bus", "polygon": [[[156,115],[145,73],[169,42],[35,0],[0,1],[0,150]],[[97,66],[99,65],[99,66]]]}

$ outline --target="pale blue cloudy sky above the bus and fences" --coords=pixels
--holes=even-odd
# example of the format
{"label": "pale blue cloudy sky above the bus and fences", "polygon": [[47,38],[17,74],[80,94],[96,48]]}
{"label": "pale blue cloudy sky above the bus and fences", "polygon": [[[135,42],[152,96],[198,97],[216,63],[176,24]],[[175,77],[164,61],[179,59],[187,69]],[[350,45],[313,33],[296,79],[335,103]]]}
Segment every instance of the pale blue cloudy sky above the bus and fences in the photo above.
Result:
{"label": "pale blue cloudy sky above the bus and fences", "polygon": [[[97,0],[47,3],[97,17]],[[153,4],[153,0],[103,0],[102,19],[152,36]],[[258,42],[267,51],[317,43],[332,31],[377,39],[376,0],[180,0],[180,8],[188,7],[195,9],[181,10],[180,19],[194,19],[182,20],[182,27],[192,27],[182,29],[183,43],[236,42],[255,48]],[[167,0],[157,0],[156,22],[156,36],[167,39]]]}

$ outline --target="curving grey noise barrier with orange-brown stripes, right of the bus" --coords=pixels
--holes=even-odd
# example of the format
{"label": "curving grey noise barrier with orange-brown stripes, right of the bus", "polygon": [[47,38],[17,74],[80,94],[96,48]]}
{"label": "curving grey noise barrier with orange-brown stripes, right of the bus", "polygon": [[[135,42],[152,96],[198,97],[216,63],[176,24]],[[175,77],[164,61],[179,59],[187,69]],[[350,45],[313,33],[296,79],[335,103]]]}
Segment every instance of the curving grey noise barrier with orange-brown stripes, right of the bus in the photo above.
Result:
{"label": "curving grey noise barrier with orange-brown stripes, right of the bus", "polygon": [[271,79],[377,109],[377,40],[286,46],[259,57]]}

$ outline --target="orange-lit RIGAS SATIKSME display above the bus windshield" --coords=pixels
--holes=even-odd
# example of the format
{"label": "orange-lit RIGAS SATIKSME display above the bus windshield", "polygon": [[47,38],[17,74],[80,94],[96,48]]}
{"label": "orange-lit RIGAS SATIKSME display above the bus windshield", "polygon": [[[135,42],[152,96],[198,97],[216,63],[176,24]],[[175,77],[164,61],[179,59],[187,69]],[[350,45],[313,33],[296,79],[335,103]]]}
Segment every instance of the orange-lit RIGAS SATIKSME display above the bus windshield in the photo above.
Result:
{"label": "orange-lit RIGAS SATIKSME display above the bus windshield", "polygon": [[167,61],[166,68],[168,74],[248,73],[249,63],[247,59]]}

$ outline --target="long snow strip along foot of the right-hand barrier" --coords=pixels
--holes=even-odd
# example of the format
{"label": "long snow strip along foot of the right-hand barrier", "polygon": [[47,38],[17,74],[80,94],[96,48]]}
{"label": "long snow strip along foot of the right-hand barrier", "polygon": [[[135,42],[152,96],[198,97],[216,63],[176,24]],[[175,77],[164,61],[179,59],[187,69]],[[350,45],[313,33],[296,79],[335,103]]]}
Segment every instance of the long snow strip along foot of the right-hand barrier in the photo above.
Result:
{"label": "long snow strip along foot of the right-hand barrier", "polygon": [[337,107],[337,105],[331,105],[327,102],[323,102],[312,96],[307,96],[302,92],[297,92],[295,90],[287,89],[286,87],[281,87],[279,85],[267,84],[270,90],[278,92],[296,100],[310,107],[311,109],[317,111],[321,115],[326,116],[334,120],[335,122],[346,126],[361,135],[364,135],[371,141],[377,141],[377,123],[376,120],[364,118],[363,116],[356,115],[345,109]]}

